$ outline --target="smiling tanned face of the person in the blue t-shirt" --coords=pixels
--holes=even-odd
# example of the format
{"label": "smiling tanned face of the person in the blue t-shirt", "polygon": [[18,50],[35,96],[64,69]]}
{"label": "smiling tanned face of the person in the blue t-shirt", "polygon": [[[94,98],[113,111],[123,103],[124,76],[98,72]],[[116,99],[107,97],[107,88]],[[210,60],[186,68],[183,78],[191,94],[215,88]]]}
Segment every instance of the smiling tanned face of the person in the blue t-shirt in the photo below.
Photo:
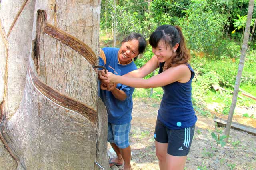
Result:
{"label": "smiling tanned face of the person in the blue t-shirt", "polygon": [[132,39],[127,42],[123,42],[120,50],[118,51],[118,60],[120,64],[127,64],[134,57],[139,54],[139,41],[136,39]]}

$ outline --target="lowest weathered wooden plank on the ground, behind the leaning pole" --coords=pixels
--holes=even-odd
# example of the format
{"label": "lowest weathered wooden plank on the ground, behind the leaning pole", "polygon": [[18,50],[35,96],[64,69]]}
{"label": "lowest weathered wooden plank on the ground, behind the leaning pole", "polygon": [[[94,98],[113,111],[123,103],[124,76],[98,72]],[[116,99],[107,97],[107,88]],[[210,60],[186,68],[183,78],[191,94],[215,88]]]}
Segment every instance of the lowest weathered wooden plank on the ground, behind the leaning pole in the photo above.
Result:
{"label": "lowest weathered wooden plank on the ground, behind the leaning pole", "polygon": [[[218,126],[224,126],[226,127],[227,121],[222,118],[215,117],[214,121],[217,122]],[[237,122],[232,122],[231,123],[231,128],[237,129],[237,130],[242,130],[245,132],[248,132],[248,134],[253,134],[256,136],[256,128],[251,127],[251,126],[246,126]]]}

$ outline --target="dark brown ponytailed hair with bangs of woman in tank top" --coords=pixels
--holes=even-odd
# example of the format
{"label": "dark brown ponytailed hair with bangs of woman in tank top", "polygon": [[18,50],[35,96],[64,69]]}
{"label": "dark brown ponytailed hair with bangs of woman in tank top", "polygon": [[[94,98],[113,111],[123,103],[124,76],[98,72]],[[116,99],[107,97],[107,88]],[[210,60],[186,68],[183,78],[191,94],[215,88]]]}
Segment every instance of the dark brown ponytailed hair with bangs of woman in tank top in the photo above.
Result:
{"label": "dark brown ponytailed hair with bangs of woman in tank top", "polygon": [[187,63],[190,60],[190,51],[186,47],[186,42],[182,34],[180,26],[161,25],[151,34],[149,44],[156,48],[160,40],[164,40],[166,46],[174,47],[179,44],[175,54],[173,53],[172,60],[167,68]]}

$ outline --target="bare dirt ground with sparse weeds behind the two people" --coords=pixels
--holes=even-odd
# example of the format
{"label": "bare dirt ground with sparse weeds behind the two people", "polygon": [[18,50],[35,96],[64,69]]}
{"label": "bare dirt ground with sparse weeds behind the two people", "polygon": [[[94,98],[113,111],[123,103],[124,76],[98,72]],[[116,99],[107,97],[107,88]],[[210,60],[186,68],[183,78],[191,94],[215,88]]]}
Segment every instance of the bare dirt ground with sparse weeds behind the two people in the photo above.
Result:
{"label": "bare dirt ground with sparse weeds behind the two people", "polygon": [[[133,170],[159,170],[153,138],[159,106],[160,101],[134,99],[130,133]],[[186,170],[256,170],[256,136],[232,129],[230,142],[224,147],[216,147],[211,133],[222,136],[225,128],[216,127],[213,118],[196,114],[198,121]],[[233,121],[248,126],[256,122],[255,119],[241,116],[234,116]]]}

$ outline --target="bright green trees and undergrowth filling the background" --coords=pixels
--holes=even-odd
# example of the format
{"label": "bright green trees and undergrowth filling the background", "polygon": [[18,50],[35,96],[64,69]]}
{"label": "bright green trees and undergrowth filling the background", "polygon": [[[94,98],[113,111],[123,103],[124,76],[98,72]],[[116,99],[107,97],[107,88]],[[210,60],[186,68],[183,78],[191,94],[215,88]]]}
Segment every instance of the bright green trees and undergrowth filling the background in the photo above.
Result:
{"label": "bright green trees and undergrowth filling the background", "polygon": [[[192,68],[196,72],[192,82],[194,109],[200,115],[211,117],[206,103],[216,102],[221,105],[216,111],[228,114],[232,94],[216,92],[212,89],[212,84],[233,91],[240,58],[238,40],[242,40],[248,2],[249,0],[122,0],[116,1],[114,10],[113,0],[102,0],[100,36],[105,37],[102,40],[104,45],[112,43],[112,37],[108,36],[106,39],[106,35],[111,35],[114,19],[119,40],[131,32],[140,32],[148,39],[161,24],[180,25],[193,56]],[[253,18],[256,18],[255,11]],[[234,29],[236,32],[231,34]],[[255,40],[248,45],[240,88],[256,96]],[[144,55],[136,60],[137,67],[143,66],[152,56],[152,49],[148,46]],[[158,70],[146,78],[157,72]],[[161,88],[154,88],[151,97],[161,100],[162,93]],[[150,95],[150,89],[136,89],[133,94],[142,98]],[[238,98],[237,104],[251,106],[256,101]]]}

